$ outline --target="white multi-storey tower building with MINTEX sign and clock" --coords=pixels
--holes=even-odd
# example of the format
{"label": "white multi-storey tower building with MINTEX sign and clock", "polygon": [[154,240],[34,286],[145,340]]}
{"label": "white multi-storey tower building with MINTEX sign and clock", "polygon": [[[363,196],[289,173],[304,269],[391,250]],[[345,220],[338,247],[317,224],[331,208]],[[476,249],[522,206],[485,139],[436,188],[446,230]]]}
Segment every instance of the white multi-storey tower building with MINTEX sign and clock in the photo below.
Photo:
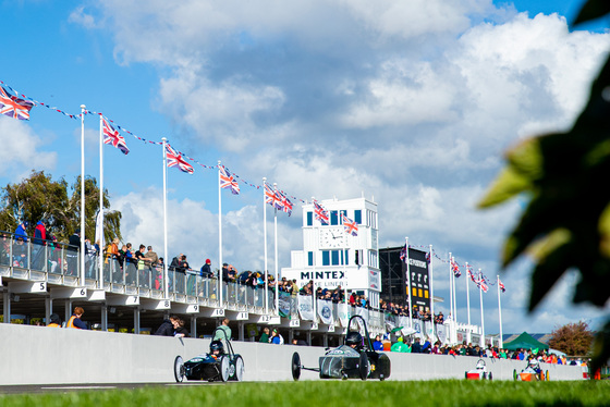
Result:
{"label": "white multi-storey tower building with MINTEX sign and clock", "polygon": [[[341,286],[347,295],[364,294],[377,307],[381,292],[377,203],[365,198],[318,203],[328,211],[329,224],[316,219],[313,203],[303,206],[303,250],[291,251],[291,267],[282,268],[281,276],[296,279],[298,286],[309,280],[316,287]],[[357,236],[345,232],[341,213],[358,224]]]}

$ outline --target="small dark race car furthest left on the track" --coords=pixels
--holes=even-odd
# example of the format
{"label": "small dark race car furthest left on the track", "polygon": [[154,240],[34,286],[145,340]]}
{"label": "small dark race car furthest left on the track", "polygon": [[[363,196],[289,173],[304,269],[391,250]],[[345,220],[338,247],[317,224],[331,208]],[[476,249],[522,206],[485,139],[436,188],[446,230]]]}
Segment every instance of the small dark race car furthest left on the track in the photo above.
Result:
{"label": "small dark race car furthest left on the track", "polygon": [[[218,329],[216,332],[224,333]],[[233,351],[233,346],[227,335],[223,341],[210,343],[209,354],[195,356],[186,362],[179,355],[173,362],[173,374],[178,383],[183,382],[184,379],[241,382],[244,378],[244,359]]]}

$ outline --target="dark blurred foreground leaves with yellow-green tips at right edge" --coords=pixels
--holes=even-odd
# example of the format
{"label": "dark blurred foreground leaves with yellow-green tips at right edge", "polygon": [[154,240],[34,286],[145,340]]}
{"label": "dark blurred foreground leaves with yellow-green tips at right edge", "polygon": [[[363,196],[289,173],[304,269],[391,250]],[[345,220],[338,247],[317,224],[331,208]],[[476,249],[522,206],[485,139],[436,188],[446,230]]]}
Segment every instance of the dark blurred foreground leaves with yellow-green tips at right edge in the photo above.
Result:
{"label": "dark blurred foreground leaves with yellow-green tips at right edge", "polygon": [[[575,24],[610,13],[610,2],[589,0]],[[568,133],[527,139],[507,155],[508,165],[479,202],[487,208],[518,194],[529,205],[507,238],[502,263],[526,250],[537,262],[529,310],[561,275],[577,269],[574,303],[603,307],[610,297],[610,58],[594,81],[589,100]],[[610,321],[609,321],[610,324]],[[610,357],[609,325],[600,332],[594,367]]]}

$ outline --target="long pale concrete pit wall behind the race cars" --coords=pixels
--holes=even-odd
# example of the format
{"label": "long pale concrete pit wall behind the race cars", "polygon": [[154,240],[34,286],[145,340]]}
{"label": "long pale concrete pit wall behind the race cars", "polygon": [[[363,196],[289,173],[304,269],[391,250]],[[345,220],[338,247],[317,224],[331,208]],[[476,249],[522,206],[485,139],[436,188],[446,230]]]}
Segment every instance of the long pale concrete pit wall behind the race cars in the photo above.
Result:
{"label": "long pale concrete pit wall behind the race cars", "polygon": [[[71,329],[0,324],[1,384],[173,382],[173,361],[207,351],[209,340],[175,338]],[[290,363],[297,350],[304,366],[317,367],[324,348],[233,342],[245,363],[245,380],[292,380]],[[473,357],[389,354],[389,380],[463,379]],[[487,360],[493,379],[512,380],[523,361]],[[581,367],[542,365],[550,380],[582,380]],[[302,372],[302,380],[315,380]]]}

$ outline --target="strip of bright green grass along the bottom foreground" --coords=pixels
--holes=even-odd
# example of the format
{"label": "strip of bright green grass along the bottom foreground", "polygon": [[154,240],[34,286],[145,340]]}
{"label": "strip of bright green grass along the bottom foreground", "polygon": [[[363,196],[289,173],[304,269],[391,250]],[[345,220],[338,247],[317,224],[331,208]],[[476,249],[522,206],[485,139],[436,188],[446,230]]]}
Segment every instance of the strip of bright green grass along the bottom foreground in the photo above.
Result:
{"label": "strip of bright green grass along the bottom foreground", "polygon": [[608,406],[610,382],[304,381],[0,395],[0,406]]}

